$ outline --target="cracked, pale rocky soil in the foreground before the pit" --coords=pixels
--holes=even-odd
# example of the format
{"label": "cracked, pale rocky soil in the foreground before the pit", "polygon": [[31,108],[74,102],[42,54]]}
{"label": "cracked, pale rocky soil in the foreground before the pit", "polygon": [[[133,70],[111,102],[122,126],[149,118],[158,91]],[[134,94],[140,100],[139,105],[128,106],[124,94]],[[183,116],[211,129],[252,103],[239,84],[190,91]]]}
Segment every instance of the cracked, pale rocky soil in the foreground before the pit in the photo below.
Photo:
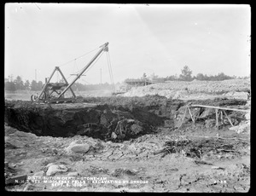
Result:
{"label": "cracked, pale rocky soil in the foreground before the pit", "polygon": [[[177,132],[163,128],[154,135],[142,135],[131,141],[115,143],[80,135],[71,138],[36,136],[6,126],[5,160],[9,162],[9,168],[5,168],[7,176],[26,174],[41,176],[43,179],[43,176],[47,177],[47,164],[64,164],[68,169],[67,172],[51,176],[52,179],[59,176],[63,180],[65,178],[62,177],[70,177],[68,174],[73,172],[78,175],[70,178],[69,184],[60,185],[40,180],[9,185],[6,189],[68,192],[247,192],[250,188],[249,136],[238,135],[229,130],[198,130],[201,130],[199,124],[190,124]],[[225,139],[217,139],[217,133]],[[68,155],[65,149],[73,141],[89,143],[90,151]],[[177,151],[161,151],[166,143],[171,145],[170,142],[173,141],[189,141],[189,147],[176,145]],[[201,153],[196,156],[199,150]],[[93,180],[94,177],[98,177],[98,181]],[[106,182],[101,181],[101,178]],[[74,180],[78,182],[74,183]]]}

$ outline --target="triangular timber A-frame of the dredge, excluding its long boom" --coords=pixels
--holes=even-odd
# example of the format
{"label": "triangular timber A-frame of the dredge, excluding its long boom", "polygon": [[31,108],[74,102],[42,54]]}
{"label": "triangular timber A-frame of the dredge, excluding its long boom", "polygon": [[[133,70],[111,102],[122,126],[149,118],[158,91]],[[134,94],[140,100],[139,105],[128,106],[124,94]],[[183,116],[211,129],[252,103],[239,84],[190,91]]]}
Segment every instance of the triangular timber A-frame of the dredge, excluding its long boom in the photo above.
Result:
{"label": "triangular timber A-frame of the dredge, excluding its long boom", "polygon": [[[53,77],[55,72],[60,72],[61,73],[61,77],[63,78],[65,83],[54,83],[54,84],[49,83],[50,79]],[[60,67],[59,66],[55,66],[55,70],[51,73],[48,81],[46,81],[46,83],[44,84],[44,88],[42,89],[40,95],[38,96],[38,101],[44,101],[44,102],[48,102],[48,103],[74,101],[74,99],[76,98],[76,95],[74,94],[73,89],[71,87],[69,89],[72,92],[72,95],[73,95],[72,98],[64,98],[64,95],[61,97],[61,99],[58,99],[58,100],[51,98],[51,95],[54,92],[57,95],[59,95],[57,90],[59,90],[59,89],[61,89],[63,87],[66,88],[68,85],[69,84],[67,83],[67,79],[65,78],[65,76],[61,72]]]}

